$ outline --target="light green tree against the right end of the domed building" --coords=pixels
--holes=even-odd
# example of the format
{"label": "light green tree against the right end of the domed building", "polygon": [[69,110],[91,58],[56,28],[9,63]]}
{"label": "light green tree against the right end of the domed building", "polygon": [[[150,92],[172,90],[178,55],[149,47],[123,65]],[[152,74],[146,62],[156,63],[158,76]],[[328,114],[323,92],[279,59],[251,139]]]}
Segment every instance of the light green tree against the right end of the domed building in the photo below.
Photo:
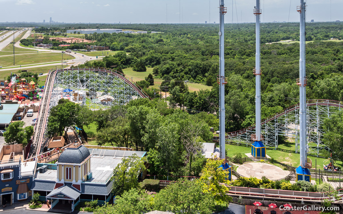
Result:
{"label": "light green tree against the right end of the domed building", "polygon": [[115,169],[113,169],[113,192],[114,194],[121,195],[124,191],[131,188],[138,187],[138,175],[144,171],[146,158],[139,157],[133,154],[127,158],[123,158]]}

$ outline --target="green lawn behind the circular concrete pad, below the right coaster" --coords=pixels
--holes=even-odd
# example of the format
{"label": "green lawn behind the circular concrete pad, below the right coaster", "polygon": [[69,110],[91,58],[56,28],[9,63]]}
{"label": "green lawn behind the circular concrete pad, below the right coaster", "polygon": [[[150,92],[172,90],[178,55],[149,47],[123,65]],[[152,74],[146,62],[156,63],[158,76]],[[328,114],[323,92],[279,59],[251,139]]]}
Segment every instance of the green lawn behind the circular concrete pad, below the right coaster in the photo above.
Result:
{"label": "green lawn behind the circular concrete pad, below the right coaster", "polygon": [[[242,157],[245,157],[245,153],[250,153],[250,147],[237,146],[233,144],[226,144],[225,146],[228,156],[233,156],[235,153],[241,153]],[[295,153],[295,142],[287,141],[283,144],[279,144],[277,150],[267,149],[267,155],[274,159],[273,165],[283,168],[286,165],[298,167],[300,165],[300,154]],[[325,158],[319,158],[315,156],[308,156],[312,160],[312,168],[323,169],[323,161]],[[336,162],[340,167],[343,167],[342,161]]]}

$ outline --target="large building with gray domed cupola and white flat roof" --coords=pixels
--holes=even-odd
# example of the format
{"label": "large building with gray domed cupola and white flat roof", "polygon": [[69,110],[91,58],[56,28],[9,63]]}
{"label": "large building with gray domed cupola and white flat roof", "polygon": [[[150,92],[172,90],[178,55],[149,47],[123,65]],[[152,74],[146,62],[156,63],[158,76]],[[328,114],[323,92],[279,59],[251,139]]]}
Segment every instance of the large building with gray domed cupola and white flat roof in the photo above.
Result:
{"label": "large building with gray domed cupola and white flat roof", "polygon": [[37,164],[46,171],[37,170],[31,189],[42,199],[49,199],[51,209],[71,210],[79,202],[96,199],[104,204],[113,198],[113,169],[133,154],[143,157],[146,152],[66,148],[55,164]]}

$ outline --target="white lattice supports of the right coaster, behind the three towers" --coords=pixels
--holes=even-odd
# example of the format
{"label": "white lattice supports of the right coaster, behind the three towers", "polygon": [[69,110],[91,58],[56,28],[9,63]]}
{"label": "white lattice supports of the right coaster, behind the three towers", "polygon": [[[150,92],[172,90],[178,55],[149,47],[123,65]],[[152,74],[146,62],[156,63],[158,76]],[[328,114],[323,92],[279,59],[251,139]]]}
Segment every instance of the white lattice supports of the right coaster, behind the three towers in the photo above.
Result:
{"label": "white lattice supports of the right coaster, behind the three towers", "polygon": [[[263,144],[270,149],[278,148],[279,137],[285,136],[295,141],[295,152],[300,152],[299,144],[299,104],[261,121]],[[320,156],[320,151],[328,148],[322,141],[324,119],[342,111],[343,104],[332,100],[310,100],[306,102],[307,154]],[[247,128],[226,133],[226,142],[250,146],[251,135],[255,134],[255,124]],[[215,138],[216,140],[216,138]],[[291,141],[293,141],[291,140]]]}

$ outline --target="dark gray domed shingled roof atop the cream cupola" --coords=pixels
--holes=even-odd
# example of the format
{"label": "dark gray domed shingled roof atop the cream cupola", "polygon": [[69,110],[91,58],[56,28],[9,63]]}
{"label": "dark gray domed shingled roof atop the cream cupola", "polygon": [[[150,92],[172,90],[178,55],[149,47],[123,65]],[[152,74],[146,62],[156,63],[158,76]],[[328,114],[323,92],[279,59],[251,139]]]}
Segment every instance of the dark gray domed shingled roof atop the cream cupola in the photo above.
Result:
{"label": "dark gray domed shingled roof atop the cream cupola", "polygon": [[58,163],[80,164],[90,155],[89,150],[84,146],[78,148],[67,148],[58,159]]}

